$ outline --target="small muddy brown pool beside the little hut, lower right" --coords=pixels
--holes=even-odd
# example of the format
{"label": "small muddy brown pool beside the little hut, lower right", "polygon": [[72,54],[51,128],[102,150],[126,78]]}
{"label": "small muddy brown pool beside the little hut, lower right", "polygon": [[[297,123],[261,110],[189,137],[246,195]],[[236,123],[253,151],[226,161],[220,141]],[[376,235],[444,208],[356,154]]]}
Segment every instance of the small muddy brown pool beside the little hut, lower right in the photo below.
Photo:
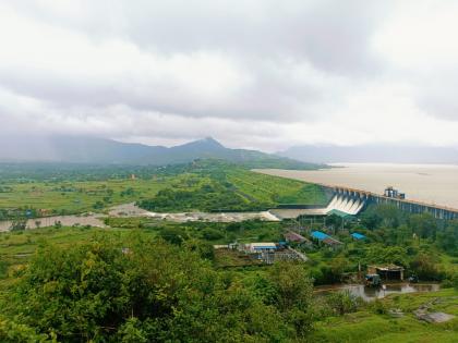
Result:
{"label": "small muddy brown pool beside the little hut, lower right", "polygon": [[385,290],[382,287],[365,287],[362,284],[339,284],[339,285],[324,285],[314,289],[315,294],[329,294],[338,291],[349,291],[355,296],[362,297],[365,302],[383,298],[389,294],[395,293],[414,293],[414,292],[434,292],[439,290],[437,283],[391,283],[385,284]]}

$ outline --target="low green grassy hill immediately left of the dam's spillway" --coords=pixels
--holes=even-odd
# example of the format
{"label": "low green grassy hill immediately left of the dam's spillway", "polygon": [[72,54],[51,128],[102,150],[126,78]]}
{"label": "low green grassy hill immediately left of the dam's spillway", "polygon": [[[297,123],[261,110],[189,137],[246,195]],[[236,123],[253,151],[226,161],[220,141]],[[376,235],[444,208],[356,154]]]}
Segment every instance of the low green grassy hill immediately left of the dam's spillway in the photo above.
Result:
{"label": "low green grassy hill immediately left of the dam's spillway", "polygon": [[153,211],[249,211],[280,204],[326,204],[316,185],[251,172],[220,161],[198,161],[182,179],[138,203]]}

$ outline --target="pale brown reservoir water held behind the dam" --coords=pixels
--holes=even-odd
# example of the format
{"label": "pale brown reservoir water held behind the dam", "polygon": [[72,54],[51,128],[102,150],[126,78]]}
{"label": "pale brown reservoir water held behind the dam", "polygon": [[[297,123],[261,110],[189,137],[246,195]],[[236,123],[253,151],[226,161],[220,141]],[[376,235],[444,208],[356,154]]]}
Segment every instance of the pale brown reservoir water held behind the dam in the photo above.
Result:
{"label": "pale brown reservoir water held behind the dam", "polygon": [[458,166],[342,163],[322,170],[254,170],[282,177],[383,194],[390,185],[407,199],[458,209]]}

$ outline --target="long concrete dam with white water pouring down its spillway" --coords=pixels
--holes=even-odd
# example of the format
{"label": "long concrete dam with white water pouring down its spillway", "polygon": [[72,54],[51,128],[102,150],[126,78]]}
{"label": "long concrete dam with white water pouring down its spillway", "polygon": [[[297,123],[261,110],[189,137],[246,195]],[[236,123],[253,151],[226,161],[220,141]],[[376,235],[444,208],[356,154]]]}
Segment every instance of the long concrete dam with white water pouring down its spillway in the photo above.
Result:
{"label": "long concrete dam with white water pouring down its spillway", "polygon": [[317,183],[328,195],[330,201],[326,207],[284,206],[270,212],[279,218],[297,218],[299,216],[357,216],[372,204],[387,204],[410,213],[431,213],[437,219],[458,219],[458,209],[426,204],[399,197],[385,196],[367,191],[343,186],[332,186]]}

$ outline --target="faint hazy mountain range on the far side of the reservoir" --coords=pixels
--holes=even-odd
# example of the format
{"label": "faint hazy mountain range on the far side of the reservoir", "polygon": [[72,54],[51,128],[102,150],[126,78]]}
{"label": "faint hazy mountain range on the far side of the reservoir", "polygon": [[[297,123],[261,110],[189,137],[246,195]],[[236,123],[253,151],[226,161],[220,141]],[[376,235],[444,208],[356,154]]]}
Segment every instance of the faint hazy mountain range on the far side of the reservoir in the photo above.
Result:
{"label": "faint hazy mountain range on the far side of the reservoir", "polygon": [[458,163],[458,149],[412,146],[298,146],[279,156],[314,163]]}

